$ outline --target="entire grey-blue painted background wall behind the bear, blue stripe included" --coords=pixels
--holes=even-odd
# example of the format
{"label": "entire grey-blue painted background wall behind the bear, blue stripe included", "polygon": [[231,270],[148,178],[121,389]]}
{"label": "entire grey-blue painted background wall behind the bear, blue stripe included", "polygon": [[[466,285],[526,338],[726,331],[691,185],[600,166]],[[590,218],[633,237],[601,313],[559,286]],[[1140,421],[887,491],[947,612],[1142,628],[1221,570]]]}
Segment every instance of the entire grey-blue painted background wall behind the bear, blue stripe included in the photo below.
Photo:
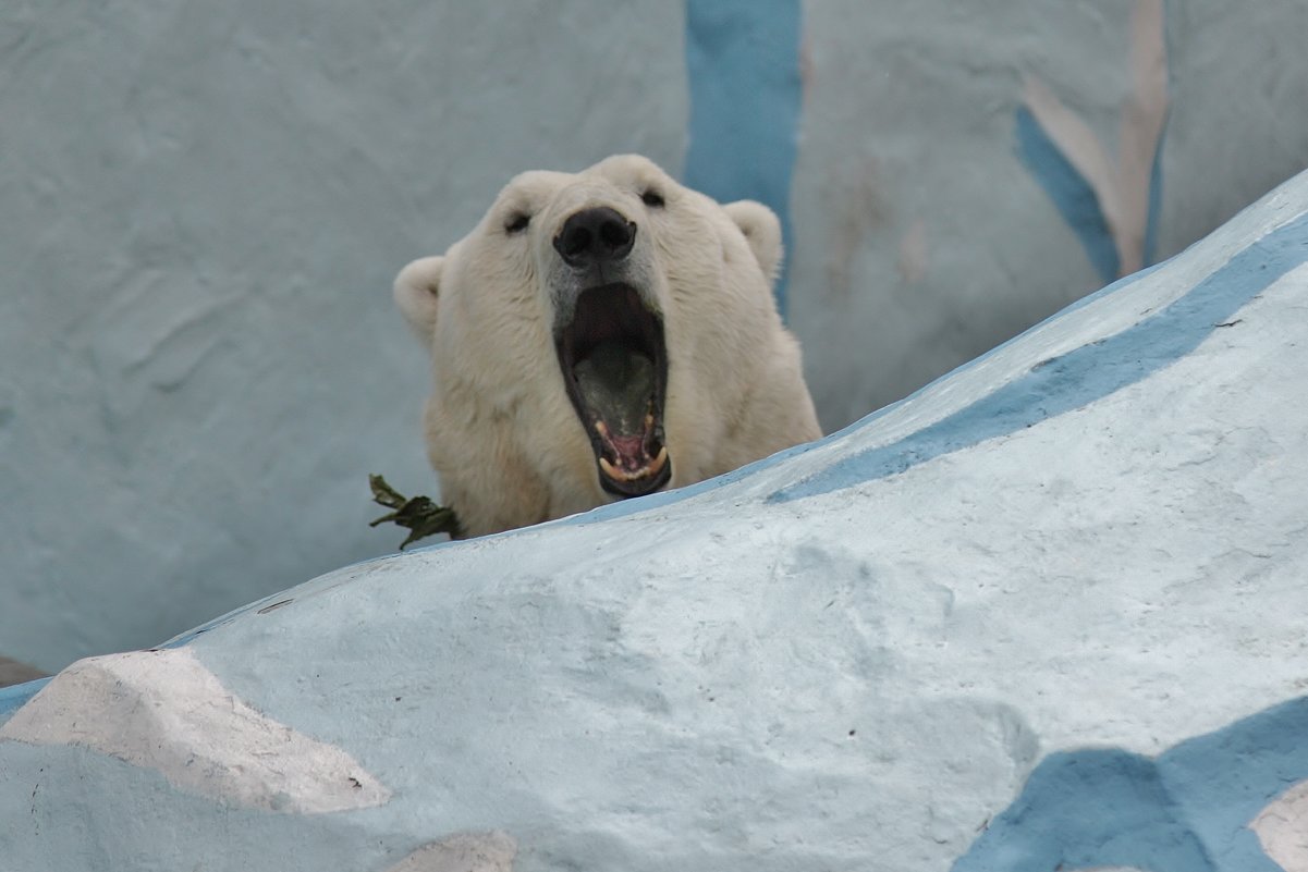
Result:
{"label": "entire grey-blue painted background wall behind the bear, blue stripe included", "polygon": [[828,429],[1105,284],[1086,143],[1180,251],[1308,159],[1308,4],[1163,5],[0,4],[0,656],[390,550],[366,475],[434,492],[390,280],[523,169],[636,150],[778,208]]}

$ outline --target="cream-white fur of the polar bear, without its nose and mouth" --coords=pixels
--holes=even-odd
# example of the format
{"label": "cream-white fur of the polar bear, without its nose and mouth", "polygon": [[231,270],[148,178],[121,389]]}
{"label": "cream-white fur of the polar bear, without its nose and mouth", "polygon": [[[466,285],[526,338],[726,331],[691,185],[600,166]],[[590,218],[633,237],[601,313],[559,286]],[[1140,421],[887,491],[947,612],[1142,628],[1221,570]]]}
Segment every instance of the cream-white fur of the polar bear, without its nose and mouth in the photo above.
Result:
{"label": "cream-white fur of the polar bear, without its nose and mouth", "polygon": [[[650,188],[664,207],[642,203]],[[400,311],[432,350],[428,454],[466,535],[615,499],[599,485],[552,337],[556,307],[577,290],[552,239],[568,216],[595,205],[636,222],[628,260],[663,314],[668,486],[820,435],[799,345],[772,297],[781,226],[770,209],[719,205],[637,156],[578,174],[525,173],[471,234],[395,280]],[[530,225],[509,234],[517,214],[530,214]]]}

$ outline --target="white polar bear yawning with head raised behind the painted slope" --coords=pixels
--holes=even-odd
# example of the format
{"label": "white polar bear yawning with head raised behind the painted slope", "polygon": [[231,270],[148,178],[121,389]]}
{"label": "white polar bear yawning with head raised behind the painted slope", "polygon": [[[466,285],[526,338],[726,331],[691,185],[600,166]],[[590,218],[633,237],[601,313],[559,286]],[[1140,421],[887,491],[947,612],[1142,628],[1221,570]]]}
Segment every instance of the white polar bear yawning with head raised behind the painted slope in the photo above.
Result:
{"label": "white polar bear yawning with head raised behind the painted slope", "polygon": [[644,157],[514,178],[404,267],[428,454],[466,536],[679,488],[818,438],[772,285],[781,225]]}

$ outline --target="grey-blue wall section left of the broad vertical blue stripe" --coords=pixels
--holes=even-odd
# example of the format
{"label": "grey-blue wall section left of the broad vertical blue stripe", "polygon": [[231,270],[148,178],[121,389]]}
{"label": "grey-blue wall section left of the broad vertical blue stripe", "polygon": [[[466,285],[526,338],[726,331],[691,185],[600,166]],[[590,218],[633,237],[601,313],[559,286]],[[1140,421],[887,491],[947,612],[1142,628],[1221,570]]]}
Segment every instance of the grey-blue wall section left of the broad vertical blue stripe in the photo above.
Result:
{"label": "grey-blue wall section left of the broad vertical blue stripe", "polygon": [[394,546],[366,475],[433,486],[391,278],[522,169],[680,170],[683,10],[636,5],[0,4],[0,654]]}

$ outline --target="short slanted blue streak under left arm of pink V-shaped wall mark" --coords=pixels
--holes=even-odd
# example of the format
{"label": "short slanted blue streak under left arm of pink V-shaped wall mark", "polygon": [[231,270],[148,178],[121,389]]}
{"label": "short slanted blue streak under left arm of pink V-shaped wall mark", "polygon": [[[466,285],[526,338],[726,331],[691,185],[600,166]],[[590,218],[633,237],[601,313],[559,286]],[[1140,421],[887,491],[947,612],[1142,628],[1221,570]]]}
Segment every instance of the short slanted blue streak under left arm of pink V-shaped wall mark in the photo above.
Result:
{"label": "short slanted blue streak under left arm of pink V-shaped wall mark", "polygon": [[1108,221],[1099,205],[1099,197],[1086,178],[1063,157],[1040,122],[1025,106],[1018,110],[1018,154],[1031,174],[1054,201],[1063,221],[1080,239],[1086,256],[1104,282],[1121,275],[1117,246],[1108,230]]}

